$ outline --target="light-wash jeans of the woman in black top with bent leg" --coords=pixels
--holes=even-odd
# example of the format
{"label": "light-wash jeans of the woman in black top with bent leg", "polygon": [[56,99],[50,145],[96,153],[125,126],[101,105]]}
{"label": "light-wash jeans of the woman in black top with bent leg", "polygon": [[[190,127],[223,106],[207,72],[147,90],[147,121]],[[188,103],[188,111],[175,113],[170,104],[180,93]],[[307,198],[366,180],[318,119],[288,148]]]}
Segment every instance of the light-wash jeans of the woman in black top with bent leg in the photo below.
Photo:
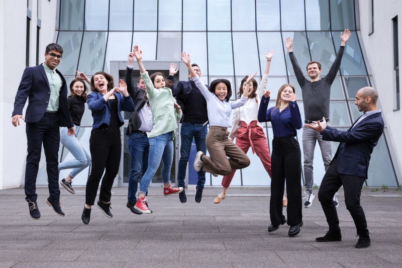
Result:
{"label": "light-wash jeans of the woman in black top with bent leg", "polygon": [[85,167],[91,164],[91,155],[85,150],[84,146],[77,139],[79,126],[74,125],[75,134],[67,135],[67,128],[60,129],[60,142],[74,156],[74,159],[66,160],[59,163],[59,171],[62,169],[73,168],[69,175],[74,178]]}

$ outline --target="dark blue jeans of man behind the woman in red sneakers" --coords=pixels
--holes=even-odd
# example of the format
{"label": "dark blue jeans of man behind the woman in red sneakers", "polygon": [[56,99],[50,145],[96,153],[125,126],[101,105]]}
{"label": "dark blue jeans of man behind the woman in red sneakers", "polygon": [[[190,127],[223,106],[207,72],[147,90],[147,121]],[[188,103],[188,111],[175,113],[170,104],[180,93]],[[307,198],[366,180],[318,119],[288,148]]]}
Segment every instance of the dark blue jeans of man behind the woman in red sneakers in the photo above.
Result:
{"label": "dark blue jeans of man behind the woman in red sneakers", "polygon": [[[138,178],[144,177],[148,168],[149,141],[143,134],[132,132],[129,134],[127,144],[130,150],[131,170],[129,175],[128,201],[137,202]],[[142,171],[141,171],[142,169]]]}

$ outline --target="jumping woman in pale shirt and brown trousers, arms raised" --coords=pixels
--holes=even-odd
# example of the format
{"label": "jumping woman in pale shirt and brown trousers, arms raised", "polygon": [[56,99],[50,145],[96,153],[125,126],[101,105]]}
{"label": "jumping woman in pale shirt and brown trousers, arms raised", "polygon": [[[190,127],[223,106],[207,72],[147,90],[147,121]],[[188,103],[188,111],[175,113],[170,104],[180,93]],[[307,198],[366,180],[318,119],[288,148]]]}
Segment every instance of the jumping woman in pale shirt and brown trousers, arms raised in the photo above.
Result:
{"label": "jumping woman in pale shirt and brown trousers, arms raised", "polygon": [[207,150],[210,156],[206,156],[202,151],[198,151],[194,161],[194,169],[198,172],[204,165],[204,171],[217,176],[217,174],[229,175],[232,169],[249,166],[250,159],[247,155],[239,146],[229,140],[228,127],[231,125],[229,121],[232,109],[244,105],[247,100],[250,81],[256,73],[250,75],[247,79],[246,90],[241,98],[237,101],[229,102],[232,90],[228,80],[216,79],[212,81],[210,90],[208,90],[207,86],[192,69],[190,55],[182,52],[181,59],[190,71],[195,85],[207,100],[208,120],[210,121],[210,130],[206,138]]}

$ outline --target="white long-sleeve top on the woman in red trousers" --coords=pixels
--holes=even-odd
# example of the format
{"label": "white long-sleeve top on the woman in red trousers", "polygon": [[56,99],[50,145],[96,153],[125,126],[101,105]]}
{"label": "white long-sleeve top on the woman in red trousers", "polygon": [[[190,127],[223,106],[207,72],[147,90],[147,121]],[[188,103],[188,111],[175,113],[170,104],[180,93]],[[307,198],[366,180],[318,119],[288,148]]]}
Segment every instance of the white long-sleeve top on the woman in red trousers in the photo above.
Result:
{"label": "white long-sleeve top on the woman in red trousers", "polygon": [[[265,93],[267,81],[268,81],[268,74],[264,73],[262,75],[260,86],[258,87],[258,90],[256,92],[257,97],[249,99],[242,107],[236,109],[233,112],[232,131],[229,136],[230,138],[237,137],[237,130],[240,127],[240,122],[243,121],[247,125],[249,125],[251,121],[257,120],[258,108],[260,107],[261,96],[264,95]],[[262,124],[258,122],[258,120],[257,125],[263,128]]]}

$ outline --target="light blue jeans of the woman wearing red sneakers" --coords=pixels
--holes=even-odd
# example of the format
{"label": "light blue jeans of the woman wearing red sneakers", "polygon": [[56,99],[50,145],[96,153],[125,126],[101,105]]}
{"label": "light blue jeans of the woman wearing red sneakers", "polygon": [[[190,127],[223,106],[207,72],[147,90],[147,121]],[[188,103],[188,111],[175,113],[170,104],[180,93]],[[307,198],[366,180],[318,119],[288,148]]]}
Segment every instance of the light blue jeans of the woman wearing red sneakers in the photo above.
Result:
{"label": "light blue jeans of the woman wearing red sneakers", "polygon": [[161,134],[156,137],[148,138],[149,156],[148,168],[141,179],[140,193],[146,194],[152,177],[155,175],[162,159],[162,181],[168,184],[170,181],[170,168],[173,161],[173,140],[171,132]]}

